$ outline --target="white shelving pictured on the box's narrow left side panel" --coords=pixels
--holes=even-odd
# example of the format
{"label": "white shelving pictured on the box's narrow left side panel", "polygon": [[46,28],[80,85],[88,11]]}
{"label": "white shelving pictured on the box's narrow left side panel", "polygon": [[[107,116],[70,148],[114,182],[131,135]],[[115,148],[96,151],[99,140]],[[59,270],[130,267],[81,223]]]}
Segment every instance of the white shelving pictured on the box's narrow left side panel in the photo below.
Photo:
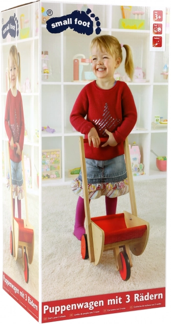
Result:
{"label": "white shelving pictured on the box's narrow left side panel", "polygon": [[[1,13],[4,21],[16,16],[19,24],[19,35],[12,38],[1,38],[2,57],[2,151],[4,154],[4,182],[9,170],[8,138],[4,128],[4,114],[9,81],[7,78],[8,55],[12,45],[17,47],[21,56],[21,82],[17,89],[21,92],[25,122],[23,155],[30,161],[31,186],[26,185],[30,193],[39,194],[37,170],[39,170],[39,2],[26,4]],[[22,25],[23,24],[23,25]],[[17,26],[17,25],[16,25]],[[22,27],[22,28],[21,28]],[[25,37],[26,35],[26,37]]]}

